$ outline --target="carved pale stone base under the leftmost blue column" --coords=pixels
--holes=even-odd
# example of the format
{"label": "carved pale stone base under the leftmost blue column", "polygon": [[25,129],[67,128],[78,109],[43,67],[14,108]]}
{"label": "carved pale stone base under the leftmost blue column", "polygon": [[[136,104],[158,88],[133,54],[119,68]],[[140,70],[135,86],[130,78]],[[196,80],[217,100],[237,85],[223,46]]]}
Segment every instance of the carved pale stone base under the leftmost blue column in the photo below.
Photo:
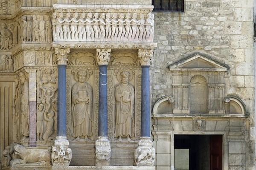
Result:
{"label": "carved pale stone base under the leftmost blue column", "polygon": [[66,136],[57,136],[52,146],[52,165],[69,166],[72,159],[72,150]]}

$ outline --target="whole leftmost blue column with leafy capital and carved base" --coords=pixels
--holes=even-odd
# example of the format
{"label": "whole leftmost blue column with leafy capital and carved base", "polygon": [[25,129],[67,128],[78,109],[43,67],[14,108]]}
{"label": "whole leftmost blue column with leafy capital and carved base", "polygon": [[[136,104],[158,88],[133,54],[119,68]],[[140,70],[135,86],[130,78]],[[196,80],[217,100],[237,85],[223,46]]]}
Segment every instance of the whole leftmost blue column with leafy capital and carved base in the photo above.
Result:
{"label": "whole leftmost blue column with leafy capital and carved base", "polygon": [[58,64],[58,123],[57,137],[52,147],[52,164],[68,166],[71,161],[71,149],[66,137],[66,67],[69,48],[55,48]]}

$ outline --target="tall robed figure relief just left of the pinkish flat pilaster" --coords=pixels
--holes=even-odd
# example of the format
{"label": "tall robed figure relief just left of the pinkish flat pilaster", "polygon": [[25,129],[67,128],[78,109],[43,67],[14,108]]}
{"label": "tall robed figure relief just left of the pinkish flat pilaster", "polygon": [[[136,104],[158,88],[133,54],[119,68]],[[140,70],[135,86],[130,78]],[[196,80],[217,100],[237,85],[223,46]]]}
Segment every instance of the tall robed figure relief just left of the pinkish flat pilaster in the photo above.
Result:
{"label": "tall robed figure relief just left of the pinkish flat pilaster", "polygon": [[29,83],[26,75],[20,73],[20,82],[22,85],[20,95],[20,132],[23,139],[29,136]]}

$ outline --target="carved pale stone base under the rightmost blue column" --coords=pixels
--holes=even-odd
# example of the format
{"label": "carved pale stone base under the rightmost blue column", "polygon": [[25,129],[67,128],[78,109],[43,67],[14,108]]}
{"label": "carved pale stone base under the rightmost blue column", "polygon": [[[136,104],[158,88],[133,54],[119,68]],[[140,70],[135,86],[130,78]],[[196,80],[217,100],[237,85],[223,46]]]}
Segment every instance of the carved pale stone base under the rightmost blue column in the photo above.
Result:
{"label": "carved pale stone base under the rightmost blue column", "polygon": [[155,159],[155,149],[150,137],[140,137],[138,147],[134,153],[134,165],[153,166]]}

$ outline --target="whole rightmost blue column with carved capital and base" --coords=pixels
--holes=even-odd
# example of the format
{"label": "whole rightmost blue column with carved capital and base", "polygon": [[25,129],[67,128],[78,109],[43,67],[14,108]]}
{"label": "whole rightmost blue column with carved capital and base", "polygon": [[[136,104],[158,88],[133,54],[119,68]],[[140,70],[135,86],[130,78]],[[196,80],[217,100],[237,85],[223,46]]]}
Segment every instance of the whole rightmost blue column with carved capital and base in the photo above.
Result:
{"label": "whole rightmost blue column with carved capital and base", "polygon": [[138,50],[142,77],[141,77],[141,137],[134,153],[136,166],[153,166],[155,149],[151,141],[150,125],[150,77],[149,67],[152,63],[153,50]]}

